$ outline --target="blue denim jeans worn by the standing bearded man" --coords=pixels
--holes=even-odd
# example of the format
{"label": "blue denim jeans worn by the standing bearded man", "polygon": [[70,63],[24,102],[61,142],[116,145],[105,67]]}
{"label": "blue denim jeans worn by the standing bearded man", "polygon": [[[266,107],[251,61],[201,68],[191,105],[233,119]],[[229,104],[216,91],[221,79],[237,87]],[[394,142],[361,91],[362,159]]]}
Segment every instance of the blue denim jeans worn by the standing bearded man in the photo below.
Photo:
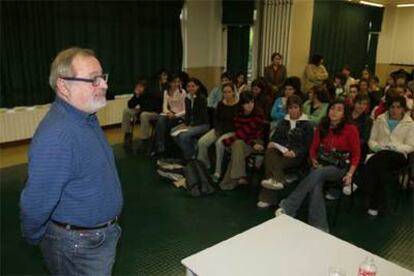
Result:
{"label": "blue denim jeans worn by the standing bearded man", "polygon": [[40,248],[52,275],[111,275],[120,236],[116,223],[97,230],[67,230],[49,222]]}

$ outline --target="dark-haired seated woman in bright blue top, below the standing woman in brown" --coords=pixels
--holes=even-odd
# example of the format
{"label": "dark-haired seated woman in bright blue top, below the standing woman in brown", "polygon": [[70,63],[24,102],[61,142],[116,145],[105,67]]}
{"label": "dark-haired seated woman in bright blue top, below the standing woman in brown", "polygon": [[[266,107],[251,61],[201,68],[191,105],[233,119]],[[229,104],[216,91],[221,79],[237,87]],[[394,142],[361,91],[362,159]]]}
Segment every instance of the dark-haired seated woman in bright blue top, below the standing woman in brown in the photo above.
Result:
{"label": "dark-haired seated woman in bright blue top, below the standing woman in brown", "polygon": [[276,98],[273,103],[272,112],[270,114],[273,122],[279,122],[283,120],[286,115],[287,99],[292,95],[300,95],[300,83],[296,81],[296,77],[289,77],[286,79],[283,85],[283,97]]}

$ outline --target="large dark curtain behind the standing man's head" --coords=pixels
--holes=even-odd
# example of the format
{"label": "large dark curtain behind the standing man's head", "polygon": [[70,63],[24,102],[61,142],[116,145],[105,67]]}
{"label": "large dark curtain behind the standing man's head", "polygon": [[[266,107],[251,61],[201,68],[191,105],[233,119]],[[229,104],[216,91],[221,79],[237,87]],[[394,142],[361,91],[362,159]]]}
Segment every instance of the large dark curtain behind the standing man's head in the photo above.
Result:
{"label": "large dark curtain behind the standing man's head", "polygon": [[1,3],[0,106],[51,102],[49,67],[71,46],[91,48],[112,95],[138,77],[182,65],[183,1],[7,1]]}

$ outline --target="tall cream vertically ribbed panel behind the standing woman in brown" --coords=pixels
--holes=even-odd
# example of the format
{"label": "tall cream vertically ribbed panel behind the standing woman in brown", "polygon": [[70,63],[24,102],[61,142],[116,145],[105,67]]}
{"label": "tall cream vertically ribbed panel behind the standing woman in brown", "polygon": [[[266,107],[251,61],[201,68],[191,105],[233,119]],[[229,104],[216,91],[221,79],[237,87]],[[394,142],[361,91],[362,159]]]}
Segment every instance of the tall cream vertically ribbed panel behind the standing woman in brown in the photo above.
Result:
{"label": "tall cream vertically ribbed panel behind the standing woman in brown", "polygon": [[290,21],[293,0],[264,0],[259,2],[260,24],[258,49],[258,74],[263,76],[264,67],[271,63],[274,52],[289,55]]}

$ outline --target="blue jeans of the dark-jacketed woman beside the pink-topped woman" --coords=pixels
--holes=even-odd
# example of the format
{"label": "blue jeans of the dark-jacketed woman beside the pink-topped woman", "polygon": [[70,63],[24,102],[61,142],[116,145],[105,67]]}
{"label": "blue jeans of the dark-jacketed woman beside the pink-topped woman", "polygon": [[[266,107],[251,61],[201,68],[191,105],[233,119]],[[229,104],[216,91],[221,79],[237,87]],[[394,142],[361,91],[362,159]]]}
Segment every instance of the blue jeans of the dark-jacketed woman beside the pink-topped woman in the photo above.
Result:
{"label": "blue jeans of the dark-jacketed woman beside the pink-topped woman", "polygon": [[198,138],[206,133],[209,129],[208,124],[192,126],[186,132],[180,133],[174,137],[175,142],[183,152],[184,159],[190,160],[196,156],[196,147]]}

